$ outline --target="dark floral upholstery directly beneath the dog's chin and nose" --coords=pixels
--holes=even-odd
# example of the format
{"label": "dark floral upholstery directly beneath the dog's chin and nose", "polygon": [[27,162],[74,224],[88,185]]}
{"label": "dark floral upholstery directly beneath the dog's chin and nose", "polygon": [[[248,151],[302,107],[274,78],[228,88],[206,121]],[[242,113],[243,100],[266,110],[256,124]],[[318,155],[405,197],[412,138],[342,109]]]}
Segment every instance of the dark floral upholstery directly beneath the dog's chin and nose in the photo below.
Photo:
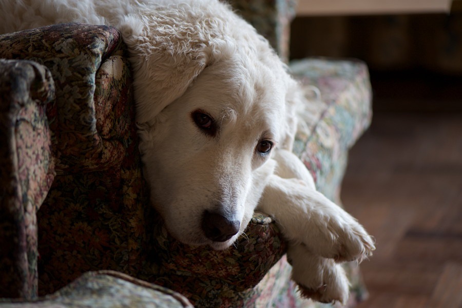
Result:
{"label": "dark floral upholstery directly beneath the dog's chin and nose", "polygon": [[[254,287],[287,248],[273,220],[259,213],[249,223],[246,235],[224,251],[184,245],[173,239],[162,223],[154,225],[151,248],[156,260],[143,279],[185,295],[197,307],[252,306],[260,296]],[[288,281],[288,276],[281,280]]]}

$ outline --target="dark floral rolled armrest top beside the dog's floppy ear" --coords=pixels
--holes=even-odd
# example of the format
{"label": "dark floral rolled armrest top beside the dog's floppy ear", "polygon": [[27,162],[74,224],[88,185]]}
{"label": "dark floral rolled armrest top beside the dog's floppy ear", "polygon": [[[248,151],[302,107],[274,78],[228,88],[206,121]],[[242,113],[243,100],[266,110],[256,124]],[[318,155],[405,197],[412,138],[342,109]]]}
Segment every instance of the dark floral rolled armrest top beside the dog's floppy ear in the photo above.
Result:
{"label": "dark floral rolled armrest top beside the dog's floppy ear", "polygon": [[[56,170],[59,172],[105,169],[120,164],[123,157],[120,133],[128,130],[131,122],[129,117],[122,115],[129,112],[126,109],[131,104],[127,104],[126,100],[131,93],[123,93],[125,101],[120,103],[114,98],[119,96],[117,91],[131,89],[124,80],[129,72],[126,57],[120,54],[122,50],[111,54],[114,49],[120,48],[120,33],[109,27],[102,29],[105,32],[95,36],[97,29],[91,26],[51,26],[4,34],[0,42],[0,57],[35,61],[48,67],[53,75],[57,99],[47,107],[47,115],[53,133]],[[126,55],[126,51],[123,52]],[[125,63],[119,68],[120,79],[113,79],[113,83],[102,80],[107,75],[104,68],[110,66],[106,63],[99,69],[107,54],[112,56],[109,63]],[[114,82],[119,82],[117,87]],[[101,97],[104,91],[112,101],[104,101]],[[119,114],[114,114],[113,121],[97,124],[96,112],[111,110],[111,105],[117,105],[115,112]],[[98,110],[102,106],[106,109]],[[99,113],[100,118],[105,116],[108,118],[104,112]],[[105,125],[106,128],[101,130],[97,125]],[[111,136],[105,133],[109,130],[113,131],[113,135],[119,135],[119,140],[110,140]]]}

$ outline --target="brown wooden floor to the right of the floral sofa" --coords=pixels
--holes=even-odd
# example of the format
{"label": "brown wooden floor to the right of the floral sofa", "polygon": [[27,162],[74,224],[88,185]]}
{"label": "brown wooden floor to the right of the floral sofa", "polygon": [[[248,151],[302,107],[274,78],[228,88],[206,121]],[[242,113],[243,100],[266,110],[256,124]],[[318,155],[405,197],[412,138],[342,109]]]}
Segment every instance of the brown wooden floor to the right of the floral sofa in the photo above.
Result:
{"label": "brown wooden floor to the right of the floral sofa", "polygon": [[376,113],[341,196],[377,242],[360,308],[462,307],[462,113]]}

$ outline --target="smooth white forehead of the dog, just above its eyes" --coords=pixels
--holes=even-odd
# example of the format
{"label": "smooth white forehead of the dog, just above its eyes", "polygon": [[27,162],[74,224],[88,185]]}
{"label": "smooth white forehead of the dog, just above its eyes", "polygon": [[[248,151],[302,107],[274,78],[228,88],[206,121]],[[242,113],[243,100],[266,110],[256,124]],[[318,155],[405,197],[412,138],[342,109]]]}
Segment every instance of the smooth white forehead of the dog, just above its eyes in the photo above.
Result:
{"label": "smooth white forehead of the dog, just above its eyes", "polygon": [[265,131],[279,138],[285,112],[285,83],[263,65],[212,66],[190,88],[195,106],[234,129]]}

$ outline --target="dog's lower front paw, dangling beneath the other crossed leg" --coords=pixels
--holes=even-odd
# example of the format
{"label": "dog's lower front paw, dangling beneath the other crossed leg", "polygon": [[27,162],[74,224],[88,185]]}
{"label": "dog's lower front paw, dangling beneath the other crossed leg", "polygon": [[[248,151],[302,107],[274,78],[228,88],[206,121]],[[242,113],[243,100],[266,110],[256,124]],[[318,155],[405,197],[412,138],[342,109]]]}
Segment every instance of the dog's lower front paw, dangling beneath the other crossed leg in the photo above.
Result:
{"label": "dog's lower front paw, dangling beneath the other crossed leg", "polygon": [[334,260],[313,255],[303,244],[291,244],[287,259],[293,267],[292,279],[303,297],[322,303],[348,301],[347,276]]}

